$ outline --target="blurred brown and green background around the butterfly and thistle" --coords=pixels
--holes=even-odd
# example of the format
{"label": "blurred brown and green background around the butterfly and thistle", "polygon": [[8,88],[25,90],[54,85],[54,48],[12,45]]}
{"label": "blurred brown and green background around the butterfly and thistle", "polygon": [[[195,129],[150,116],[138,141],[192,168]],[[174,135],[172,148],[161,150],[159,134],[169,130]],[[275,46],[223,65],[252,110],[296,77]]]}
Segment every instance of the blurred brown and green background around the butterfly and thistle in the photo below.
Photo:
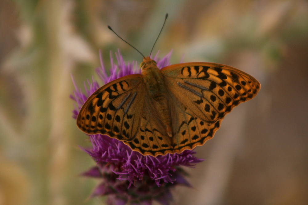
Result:
{"label": "blurred brown and green background around the butterfly and thistle", "polygon": [[[304,0],[1,0],[0,205],[98,205],[95,162],[71,118],[76,84],[99,81],[99,49],[125,61],[173,49],[172,64],[231,65],[260,81],[186,168],[174,204],[308,204],[308,2]],[[114,56],[115,57],[115,56]],[[103,85],[99,81],[100,85]]]}

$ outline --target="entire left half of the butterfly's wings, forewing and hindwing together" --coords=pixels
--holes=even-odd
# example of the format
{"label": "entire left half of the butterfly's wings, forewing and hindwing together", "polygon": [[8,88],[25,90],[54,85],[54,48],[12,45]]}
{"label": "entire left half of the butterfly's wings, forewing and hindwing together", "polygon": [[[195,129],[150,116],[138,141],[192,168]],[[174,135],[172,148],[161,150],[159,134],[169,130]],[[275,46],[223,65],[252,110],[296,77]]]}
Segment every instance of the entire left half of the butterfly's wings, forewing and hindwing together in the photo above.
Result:
{"label": "entire left half of the butterfly's wings, forewing and hindwing together", "polygon": [[170,137],[151,103],[140,74],[103,85],[83,104],[77,126],[87,134],[104,134],[143,155],[172,152]]}

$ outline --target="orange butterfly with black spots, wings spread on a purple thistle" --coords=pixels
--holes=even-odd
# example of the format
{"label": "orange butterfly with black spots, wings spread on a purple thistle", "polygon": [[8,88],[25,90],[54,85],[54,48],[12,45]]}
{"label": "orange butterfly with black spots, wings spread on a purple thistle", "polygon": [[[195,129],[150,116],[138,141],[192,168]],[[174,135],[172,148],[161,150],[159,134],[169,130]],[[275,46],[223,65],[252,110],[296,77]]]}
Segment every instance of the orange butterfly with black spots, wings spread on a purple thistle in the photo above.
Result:
{"label": "orange butterfly with black spots, wings spread on a purple thistle", "polygon": [[249,74],[216,63],[159,69],[144,57],[140,68],[87,99],[77,116],[80,130],[121,140],[142,155],[181,153],[211,139],[225,115],[261,88]]}

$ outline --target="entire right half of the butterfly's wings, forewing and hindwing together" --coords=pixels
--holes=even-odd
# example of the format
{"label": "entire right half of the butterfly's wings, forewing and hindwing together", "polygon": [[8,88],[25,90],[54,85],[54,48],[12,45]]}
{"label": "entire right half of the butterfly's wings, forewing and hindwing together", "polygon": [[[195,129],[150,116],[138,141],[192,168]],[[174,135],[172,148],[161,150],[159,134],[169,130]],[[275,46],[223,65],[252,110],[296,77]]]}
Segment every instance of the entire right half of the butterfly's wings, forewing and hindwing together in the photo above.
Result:
{"label": "entire right half of the butterfly's wings, forewing and hindwing together", "polygon": [[255,97],[261,88],[249,74],[221,64],[182,63],[161,72],[174,102],[172,143],[176,152],[211,139],[225,115]]}

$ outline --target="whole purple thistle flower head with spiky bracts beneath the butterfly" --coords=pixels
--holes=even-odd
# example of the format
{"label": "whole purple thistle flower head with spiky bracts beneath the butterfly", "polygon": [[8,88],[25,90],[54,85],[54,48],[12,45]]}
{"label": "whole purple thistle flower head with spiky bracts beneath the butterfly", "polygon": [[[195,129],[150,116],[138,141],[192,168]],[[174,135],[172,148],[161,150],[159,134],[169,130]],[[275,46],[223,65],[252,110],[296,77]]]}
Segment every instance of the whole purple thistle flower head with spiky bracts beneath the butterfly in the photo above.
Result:
{"label": "whole purple thistle flower head with spiky bracts beneath the butterfly", "polygon": [[[157,62],[158,68],[170,65],[171,53],[172,51],[162,59],[157,57],[158,53],[156,54],[153,60]],[[101,53],[99,54],[101,67],[95,71],[105,84],[119,77],[141,73],[137,62],[125,64],[118,50],[118,53],[115,53],[117,65],[114,64],[110,53],[111,69],[110,76],[107,76]],[[87,80],[89,89],[84,83],[86,93],[82,93],[81,89],[77,88],[74,79],[73,83],[75,91],[70,97],[77,102],[73,110],[73,118],[76,119],[87,98],[99,89],[99,84],[92,77],[92,82]],[[167,205],[172,200],[169,187],[176,184],[190,186],[181,175],[184,171],[179,166],[192,167],[203,161],[193,156],[195,152],[191,150],[165,156],[143,156],[120,140],[101,134],[89,136],[93,147],[83,150],[97,162],[97,166],[83,175],[103,179],[103,183],[95,189],[92,196],[108,195],[110,205],[126,204],[128,201],[130,204],[150,205],[153,199]]]}

